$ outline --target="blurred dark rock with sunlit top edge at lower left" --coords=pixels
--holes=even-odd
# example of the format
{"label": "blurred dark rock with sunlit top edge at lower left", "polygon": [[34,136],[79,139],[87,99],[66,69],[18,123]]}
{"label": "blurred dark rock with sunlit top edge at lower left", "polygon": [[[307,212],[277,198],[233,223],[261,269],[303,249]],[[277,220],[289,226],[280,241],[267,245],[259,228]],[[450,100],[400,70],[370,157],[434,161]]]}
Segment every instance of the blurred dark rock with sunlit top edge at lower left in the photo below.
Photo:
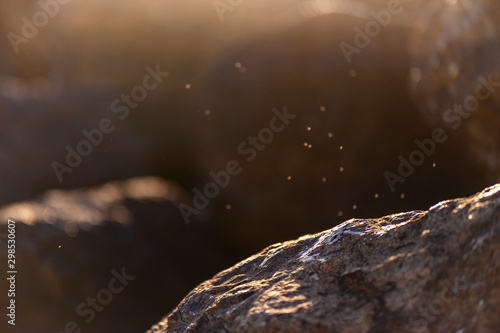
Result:
{"label": "blurred dark rock with sunlit top edge at lower left", "polygon": [[[176,207],[184,195],[173,182],[142,177],[2,207],[2,267],[6,224],[16,222],[16,332],[63,332],[72,321],[84,332],[145,331],[165,302],[173,308],[228,265],[203,225],[184,223]],[[109,299],[115,274],[132,278],[118,292],[115,282]],[[0,288],[7,294],[5,278]]]}

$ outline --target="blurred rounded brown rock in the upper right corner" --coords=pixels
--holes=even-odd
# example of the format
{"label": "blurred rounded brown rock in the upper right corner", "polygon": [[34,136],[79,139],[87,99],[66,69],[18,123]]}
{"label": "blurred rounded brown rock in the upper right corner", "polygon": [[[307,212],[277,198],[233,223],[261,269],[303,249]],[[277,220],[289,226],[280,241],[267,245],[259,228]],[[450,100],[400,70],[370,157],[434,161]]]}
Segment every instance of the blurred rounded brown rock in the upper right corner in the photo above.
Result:
{"label": "blurred rounded brown rock in the upper right corner", "polygon": [[[500,3],[429,1],[410,43],[410,88],[420,112],[500,179]],[[450,22],[456,24],[450,25]]]}

